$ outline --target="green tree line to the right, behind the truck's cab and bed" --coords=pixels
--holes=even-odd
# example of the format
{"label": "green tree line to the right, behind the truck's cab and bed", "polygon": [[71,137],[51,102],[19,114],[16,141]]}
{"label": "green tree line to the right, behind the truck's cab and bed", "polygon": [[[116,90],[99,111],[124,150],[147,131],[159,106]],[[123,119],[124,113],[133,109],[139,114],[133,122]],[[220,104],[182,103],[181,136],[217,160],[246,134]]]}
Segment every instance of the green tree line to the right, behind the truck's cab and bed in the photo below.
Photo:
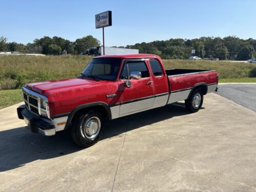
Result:
{"label": "green tree line to the right, behind the truck's cab and bed", "polygon": [[[140,53],[152,53],[164,59],[187,59],[191,55],[201,58],[219,58],[222,60],[248,60],[254,58],[256,39],[241,39],[236,36],[201,37],[196,39],[169,39],[142,42],[126,48],[139,49]],[[191,54],[191,50],[195,54]]]}

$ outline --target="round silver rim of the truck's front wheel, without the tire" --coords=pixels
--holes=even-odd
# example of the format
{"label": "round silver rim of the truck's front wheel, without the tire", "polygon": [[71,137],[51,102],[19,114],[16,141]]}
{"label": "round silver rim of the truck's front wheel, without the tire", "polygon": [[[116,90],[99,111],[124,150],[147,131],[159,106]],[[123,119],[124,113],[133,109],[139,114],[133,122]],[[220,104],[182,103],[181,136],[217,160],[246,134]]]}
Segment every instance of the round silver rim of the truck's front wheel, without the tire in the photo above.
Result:
{"label": "round silver rim of the truck's front wheel, without the tire", "polygon": [[91,117],[84,125],[84,134],[88,139],[95,139],[100,131],[100,120],[98,117]]}

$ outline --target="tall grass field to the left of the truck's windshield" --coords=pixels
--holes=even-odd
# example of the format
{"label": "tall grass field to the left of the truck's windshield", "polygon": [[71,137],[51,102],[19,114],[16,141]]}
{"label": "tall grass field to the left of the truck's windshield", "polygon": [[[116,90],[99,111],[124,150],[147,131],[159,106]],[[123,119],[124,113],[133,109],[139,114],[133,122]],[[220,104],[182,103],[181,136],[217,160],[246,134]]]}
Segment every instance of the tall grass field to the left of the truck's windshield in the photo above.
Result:
{"label": "tall grass field to the left of the truck's windshield", "polygon": [[26,83],[77,77],[92,57],[0,55],[0,90]]}

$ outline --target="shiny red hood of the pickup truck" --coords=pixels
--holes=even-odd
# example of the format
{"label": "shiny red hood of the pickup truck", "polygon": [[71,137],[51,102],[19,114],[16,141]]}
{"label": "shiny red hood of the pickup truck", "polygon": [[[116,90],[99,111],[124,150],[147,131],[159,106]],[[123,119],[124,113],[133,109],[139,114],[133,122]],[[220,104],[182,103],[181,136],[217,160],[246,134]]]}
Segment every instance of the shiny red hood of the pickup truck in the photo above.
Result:
{"label": "shiny red hood of the pickup truck", "polygon": [[45,82],[36,82],[29,83],[26,85],[26,88],[37,92],[41,95],[48,96],[50,93],[60,90],[70,90],[77,87],[92,87],[95,84],[99,84],[99,81],[90,80],[90,79],[81,79],[81,78],[73,78],[73,79],[60,79],[60,80],[51,80]]}

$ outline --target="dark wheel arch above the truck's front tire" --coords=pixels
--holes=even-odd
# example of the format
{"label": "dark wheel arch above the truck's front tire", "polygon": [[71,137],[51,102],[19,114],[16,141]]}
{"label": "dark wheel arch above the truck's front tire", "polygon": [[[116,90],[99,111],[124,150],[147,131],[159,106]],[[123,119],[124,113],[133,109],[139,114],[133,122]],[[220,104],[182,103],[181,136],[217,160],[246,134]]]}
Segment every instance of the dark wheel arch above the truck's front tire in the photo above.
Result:
{"label": "dark wheel arch above the truck's front tire", "polygon": [[73,117],[71,117],[71,121],[70,121],[68,127],[65,127],[65,129],[69,129],[72,126],[74,120],[78,116],[80,116],[82,114],[86,114],[87,112],[89,112],[91,110],[99,111],[103,115],[103,117],[105,117],[106,119],[110,119],[111,118],[109,113],[108,113],[108,110],[104,106],[102,106],[102,105],[89,106],[89,107],[82,108],[82,109],[79,109],[78,111],[76,111],[75,114],[73,115]]}

